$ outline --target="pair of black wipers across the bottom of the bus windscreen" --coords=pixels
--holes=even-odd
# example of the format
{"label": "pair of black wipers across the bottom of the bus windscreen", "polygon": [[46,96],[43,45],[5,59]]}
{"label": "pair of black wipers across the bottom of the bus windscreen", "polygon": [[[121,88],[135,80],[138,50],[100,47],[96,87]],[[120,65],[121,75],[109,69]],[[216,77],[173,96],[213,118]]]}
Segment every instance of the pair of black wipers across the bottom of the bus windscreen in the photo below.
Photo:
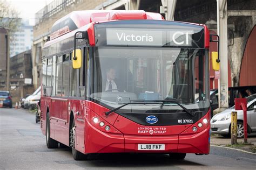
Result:
{"label": "pair of black wipers across the bottom of the bus windscreen", "polygon": [[117,110],[119,110],[119,109],[125,107],[125,106],[128,105],[128,104],[174,103],[174,104],[179,105],[179,107],[182,108],[183,110],[185,110],[185,112],[186,112],[187,114],[189,114],[190,116],[194,116],[194,114],[193,114],[190,110],[188,110],[187,108],[185,108],[183,105],[181,105],[181,104],[178,103],[178,102],[179,102],[179,100],[151,100],[151,101],[149,101],[149,100],[144,100],[144,101],[143,101],[143,100],[141,100],[141,101],[138,100],[138,101],[131,101],[131,102],[129,102],[129,103],[125,103],[125,104],[121,105],[121,106],[118,107],[118,108],[114,108],[114,109],[112,109],[112,110],[110,110],[110,111],[105,112],[105,115],[107,116],[107,115],[111,114],[112,112],[117,111]]}

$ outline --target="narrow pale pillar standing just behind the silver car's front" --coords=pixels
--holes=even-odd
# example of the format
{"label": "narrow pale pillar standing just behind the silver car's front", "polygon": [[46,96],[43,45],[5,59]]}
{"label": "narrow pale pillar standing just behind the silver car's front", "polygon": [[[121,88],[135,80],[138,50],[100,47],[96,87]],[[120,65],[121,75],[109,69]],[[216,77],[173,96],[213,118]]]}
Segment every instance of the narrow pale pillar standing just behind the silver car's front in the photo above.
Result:
{"label": "narrow pale pillar standing just behind the silver car's front", "polygon": [[219,111],[228,108],[227,0],[217,0],[217,24],[220,37]]}

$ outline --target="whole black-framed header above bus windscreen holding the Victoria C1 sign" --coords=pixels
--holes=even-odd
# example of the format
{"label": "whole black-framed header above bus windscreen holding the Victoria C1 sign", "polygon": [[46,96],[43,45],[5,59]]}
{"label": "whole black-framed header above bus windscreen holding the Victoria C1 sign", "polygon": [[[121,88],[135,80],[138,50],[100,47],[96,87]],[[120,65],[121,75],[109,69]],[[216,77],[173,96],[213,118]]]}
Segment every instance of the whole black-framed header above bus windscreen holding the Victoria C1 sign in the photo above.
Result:
{"label": "whole black-framed header above bus windscreen holding the Victoria C1 sign", "polygon": [[96,46],[204,48],[204,27],[168,21],[132,20],[95,25]]}

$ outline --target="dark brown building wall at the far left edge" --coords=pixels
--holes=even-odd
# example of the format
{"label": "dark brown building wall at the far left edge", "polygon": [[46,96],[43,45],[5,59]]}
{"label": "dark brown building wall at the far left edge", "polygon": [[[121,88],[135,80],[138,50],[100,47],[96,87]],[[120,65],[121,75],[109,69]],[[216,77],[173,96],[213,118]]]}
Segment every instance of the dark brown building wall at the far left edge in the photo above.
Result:
{"label": "dark brown building wall at the far left edge", "polygon": [[8,31],[0,27],[0,90],[9,90]]}

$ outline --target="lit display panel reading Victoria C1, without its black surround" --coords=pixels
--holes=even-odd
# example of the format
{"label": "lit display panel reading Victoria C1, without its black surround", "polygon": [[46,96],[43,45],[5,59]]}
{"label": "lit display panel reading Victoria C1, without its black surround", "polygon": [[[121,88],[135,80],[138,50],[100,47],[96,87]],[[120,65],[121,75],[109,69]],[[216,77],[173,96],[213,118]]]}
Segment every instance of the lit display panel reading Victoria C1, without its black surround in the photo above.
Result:
{"label": "lit display panel reading Victoria C1, without its black surround", "polygon": [[106,28],[107,45],[192,46],[193,30]]}

